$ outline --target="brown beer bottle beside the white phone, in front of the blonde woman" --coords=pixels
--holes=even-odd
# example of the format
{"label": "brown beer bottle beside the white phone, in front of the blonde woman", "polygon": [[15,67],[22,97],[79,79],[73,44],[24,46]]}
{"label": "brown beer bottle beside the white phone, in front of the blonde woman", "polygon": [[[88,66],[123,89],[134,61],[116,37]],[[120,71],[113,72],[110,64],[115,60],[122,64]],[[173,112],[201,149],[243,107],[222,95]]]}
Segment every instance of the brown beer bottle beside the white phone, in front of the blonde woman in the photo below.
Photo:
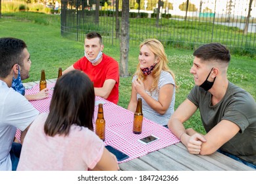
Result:
{"label": "brown beer bottle beside the white phone, in front of the blonde woman", "polygon": [[133,131],[136,134],[140,134],[142,131],[142,122],[143,122],[143,114],[142,114],[142,103],[141,98],[138,99],[136,112],[134,112],[134,128]]}

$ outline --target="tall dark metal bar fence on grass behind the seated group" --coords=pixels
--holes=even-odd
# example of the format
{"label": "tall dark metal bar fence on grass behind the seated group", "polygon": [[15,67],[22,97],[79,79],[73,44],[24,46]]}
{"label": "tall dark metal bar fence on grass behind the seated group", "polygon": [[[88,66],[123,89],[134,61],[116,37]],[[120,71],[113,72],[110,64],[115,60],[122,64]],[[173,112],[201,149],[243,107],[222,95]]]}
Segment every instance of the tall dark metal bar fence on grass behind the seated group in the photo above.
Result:
{"label": "tall dark metal bar fence on grass behind the seated group", "polygon": [[[2,0],[2,7],[7,1]],[[151,37],[162,41],[165,47],[193,49],[203,43],[220,42],[255,50],[255,0],[251,3],[247,33],[244,32],[249,1],[130,0],[130,45]],[[97,31],[104,43],[120,43],[122,0],[62,0],[59,4],[59,12],[54,13],[61,14],[64,37],[84,41],[85,34]]]}

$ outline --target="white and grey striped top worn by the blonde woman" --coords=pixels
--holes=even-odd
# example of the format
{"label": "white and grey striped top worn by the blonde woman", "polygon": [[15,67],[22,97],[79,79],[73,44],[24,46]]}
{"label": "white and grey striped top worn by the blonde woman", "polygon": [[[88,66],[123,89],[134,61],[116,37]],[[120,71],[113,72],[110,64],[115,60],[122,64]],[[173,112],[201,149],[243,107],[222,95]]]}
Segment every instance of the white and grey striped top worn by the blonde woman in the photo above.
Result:
{"label": "white and grey striped top worn by the blonde woman", "polygon": [[[134,76],[132,78],[132,81],[136,80],[137,78],[138,78],[138,76]],[[145,91],[153,99],[158,101],[158,99],[159,99],[159,89],[161,87],[163,87],[163,85],[166,85],[168,83],[174,85],[174,91],[173,91],[172,101],[170,103],[170,106],[169,106],[168,110],[165,112],[165,114],[163,114],[163,115],[161,115],[158,112],[156,112],[155,110],[153,110],[145,102],[145,100],[139,94],[137,94],[137,99],[141,98],[141,100],[142,100],[143,116],[145,118],[153,121],[153,122],[156,122],[157,124],[161,124],[162,126],[165,126],[166,124],[168,124],[168,120],[169,120],[170,116],[172,116],[172,114],[174,113],[175,83],[174,83],[174,79],[172,78],[172,75],[169,72],[162,71],[161,74],[160,74],[159,82],[158,82],[158,87],[157,87],[158,89],[155,89],[155,91],[152,91],[152,93],[150,93],[150,91]]]}

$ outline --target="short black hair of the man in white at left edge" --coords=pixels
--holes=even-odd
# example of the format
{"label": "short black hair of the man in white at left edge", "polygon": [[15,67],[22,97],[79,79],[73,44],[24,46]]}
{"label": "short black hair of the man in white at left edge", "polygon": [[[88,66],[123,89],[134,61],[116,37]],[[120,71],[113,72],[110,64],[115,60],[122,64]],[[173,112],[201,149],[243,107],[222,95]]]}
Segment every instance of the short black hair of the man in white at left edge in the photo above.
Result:
{"label": "short black hair of the man in white at left edge", "polygon": [[14,37],[0,38],[0,77],[6,78],[14,64],[23,66],[23,50],[27,48],[26,43]]}

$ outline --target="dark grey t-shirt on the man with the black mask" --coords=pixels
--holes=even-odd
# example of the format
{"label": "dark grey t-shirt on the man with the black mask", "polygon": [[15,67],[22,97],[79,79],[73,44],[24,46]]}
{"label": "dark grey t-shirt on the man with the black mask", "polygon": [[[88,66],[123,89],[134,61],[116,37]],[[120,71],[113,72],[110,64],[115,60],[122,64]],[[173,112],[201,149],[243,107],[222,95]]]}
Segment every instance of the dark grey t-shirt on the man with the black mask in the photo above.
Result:
{"label": "dark grey t-shirt on the man with the black mask", "polygon": [[211,93],[195,86],[188,99],[199,108],[207,132],[221,120],[238,125],[240,131],[220,150],[256,164],[256,103],[247,91],[229,82],[223,99],[212,105]]}

